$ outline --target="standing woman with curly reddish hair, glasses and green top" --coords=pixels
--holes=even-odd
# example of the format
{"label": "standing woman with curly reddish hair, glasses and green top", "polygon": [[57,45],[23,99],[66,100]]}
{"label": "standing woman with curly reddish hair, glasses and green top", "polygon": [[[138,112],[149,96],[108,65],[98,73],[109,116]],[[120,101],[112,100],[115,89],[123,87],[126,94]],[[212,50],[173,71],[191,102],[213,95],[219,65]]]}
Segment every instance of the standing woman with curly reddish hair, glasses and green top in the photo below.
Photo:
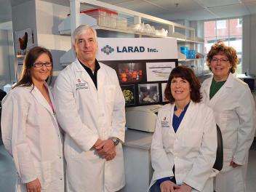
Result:
{"label": "standing woman with curly reddish hair, glasses and green top", "polygon": [[249,147],[255,135],[255,102],[247,84],[233,76],[239,58],[223,42],[212,45],[207,65],[213,76],[201,87],[203,102],[215,113],[223,135],[223,169],[215,178],[217,192],[245,192]]}

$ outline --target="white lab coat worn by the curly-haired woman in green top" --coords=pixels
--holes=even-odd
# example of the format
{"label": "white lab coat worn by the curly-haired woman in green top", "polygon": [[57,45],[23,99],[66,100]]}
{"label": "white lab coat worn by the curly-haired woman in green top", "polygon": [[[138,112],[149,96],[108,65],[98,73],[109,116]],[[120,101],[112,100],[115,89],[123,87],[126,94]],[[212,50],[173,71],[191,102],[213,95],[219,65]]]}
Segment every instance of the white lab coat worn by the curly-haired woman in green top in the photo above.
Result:
{"label": "white lab coat worn by the curly-haired woman in green top", "polygon": [[[223,135],[223,169],[216,177],[216,191],[242,192],[245,191],[249,147],[255,135],[255,102],[248,85],[232,73],[223,87],[209,100],[212,78],[213,76],[204,81],[201,92],[204,103],[213,109],[215,121]],[[232,160],[243,166],[231,167]]]}

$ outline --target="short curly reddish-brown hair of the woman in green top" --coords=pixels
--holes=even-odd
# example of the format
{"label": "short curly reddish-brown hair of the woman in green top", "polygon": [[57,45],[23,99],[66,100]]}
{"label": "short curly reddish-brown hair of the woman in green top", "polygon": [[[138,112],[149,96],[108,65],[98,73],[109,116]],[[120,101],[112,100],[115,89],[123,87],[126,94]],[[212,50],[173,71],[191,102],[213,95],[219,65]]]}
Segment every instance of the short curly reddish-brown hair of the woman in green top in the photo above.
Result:
{"label": "short curly reddish-brown hair of the woman in green top", "polygon": [[[234,49],[233,47],[226,46],[223,41],[213,44],[207,54],[208,67],[212,61],[212,58],[218,54],[223,54],[226,57],[228,57],[228,60],[231,63],[231,73],[235,73],[236,65],[239,63],[239,57],[237,57],[236,49]],[[209,70],[212,71],[210,67]]]}

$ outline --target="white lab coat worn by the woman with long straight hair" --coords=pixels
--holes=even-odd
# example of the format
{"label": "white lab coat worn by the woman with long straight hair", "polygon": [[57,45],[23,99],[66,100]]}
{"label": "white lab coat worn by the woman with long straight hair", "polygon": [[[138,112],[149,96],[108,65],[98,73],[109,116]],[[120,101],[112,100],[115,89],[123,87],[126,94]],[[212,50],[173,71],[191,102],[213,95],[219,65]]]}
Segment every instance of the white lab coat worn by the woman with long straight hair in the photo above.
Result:
{"label": "white lab coat worn by the woman with long straight hair", "polygon": [[41,191],[64,191],[62,136],[39,89],[16,87],[4,97],[2,106],[2,138],[17,169],[16,191],[26,191],[24,183],[36,178]]}

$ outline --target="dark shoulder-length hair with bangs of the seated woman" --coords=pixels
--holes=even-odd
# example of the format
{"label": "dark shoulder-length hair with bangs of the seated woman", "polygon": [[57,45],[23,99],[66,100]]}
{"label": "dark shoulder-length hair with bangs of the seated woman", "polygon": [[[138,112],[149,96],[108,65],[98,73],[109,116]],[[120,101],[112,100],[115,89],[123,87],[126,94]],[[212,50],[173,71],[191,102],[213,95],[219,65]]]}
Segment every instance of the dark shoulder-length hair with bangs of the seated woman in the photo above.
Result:
{"label": "dark shoulder-length hair with bangs of the seated woman", "polygon": [[193,100],[193,102],[195,103],[199,103],[201,101],[201,93],[200,93],[201,84],[199,82],[199,79],[197,79],[195,73],[193,73],[192,69],[186,66],[177,66],[169,74],[167,87],[164,90],[164,96],[167,98],[167,100],[169,100],[169,103],[175,102],[175,98],[172,96],[170,86],[171,86],[172,79],[177,77],[180,77],[181,79],[185,79],[186,81],[188,81],[191,87],[191,100]]}

